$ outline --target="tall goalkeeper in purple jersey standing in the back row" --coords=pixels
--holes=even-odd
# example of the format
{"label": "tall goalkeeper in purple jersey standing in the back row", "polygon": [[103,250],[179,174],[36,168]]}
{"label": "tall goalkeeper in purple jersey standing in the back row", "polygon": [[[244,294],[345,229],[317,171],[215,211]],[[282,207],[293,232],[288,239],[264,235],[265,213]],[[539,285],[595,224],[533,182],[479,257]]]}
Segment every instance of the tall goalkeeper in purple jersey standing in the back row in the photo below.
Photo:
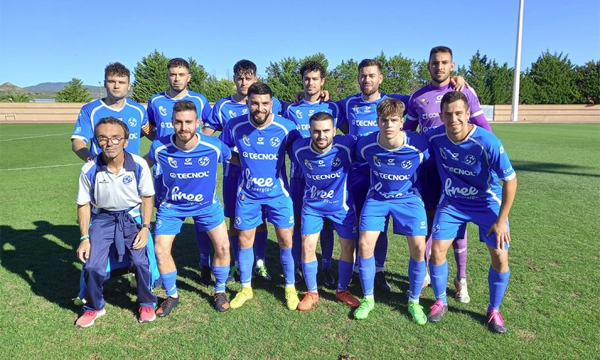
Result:
{"label": "tall goalkeeper in purple jersey standing in the back row", "polygon": [[[450,83],[450,74],[454,70],[452,62],[452,51],[446,46],[436,46],[429,52],[429,63],[427,64],[432,81],[419,90],[412,93],[408,102],[407,122],[405,129],[410,131],[417,130],[424,134],[428,129],[441,126],[439,112],[441,111],[439,103],[441,97],[454,90]],[[463,88],[468,100],[468,107],[471,109],[471,123],[491,131],[490,125],[483,115],[479,99],[473,88]],[[424,164],[421,175],[423,186],[423,202],[427,211],[427,224],[431,231],[432,221],[435,215],[436,207],[441,196],[441,183],[439,174],[433,162]],[[454,277],[454,286],[456,287],[456,300],[459,302],[469,302],[471,297],[468,295],[466,286],[466,254],[467,254],[467,234],[461,236],[452,243],[454,247],[454,260],[456,261],[456,277]],[[427,248],[425,249],[425,258],[429,258],[429,252],[432,246],[431,233],[427,237]],[[429,284],[429,275],[426,276],[424,286]]]}

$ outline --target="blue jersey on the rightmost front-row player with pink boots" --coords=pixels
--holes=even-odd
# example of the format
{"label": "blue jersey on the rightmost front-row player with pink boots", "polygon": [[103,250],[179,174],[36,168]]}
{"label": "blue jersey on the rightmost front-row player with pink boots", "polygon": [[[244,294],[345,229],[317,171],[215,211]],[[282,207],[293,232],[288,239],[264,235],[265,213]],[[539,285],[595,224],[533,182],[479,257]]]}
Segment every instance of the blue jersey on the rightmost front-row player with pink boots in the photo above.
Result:
{"label": "blue jersey on the rightmost front-row player with pink boots", "polygon": [[500,179],[508,181],[516,174],[498,137],[476,125],[459,143],[449,139],[444,126],[429,130],[425,136],[444,196],[466,204],[501,202]]}

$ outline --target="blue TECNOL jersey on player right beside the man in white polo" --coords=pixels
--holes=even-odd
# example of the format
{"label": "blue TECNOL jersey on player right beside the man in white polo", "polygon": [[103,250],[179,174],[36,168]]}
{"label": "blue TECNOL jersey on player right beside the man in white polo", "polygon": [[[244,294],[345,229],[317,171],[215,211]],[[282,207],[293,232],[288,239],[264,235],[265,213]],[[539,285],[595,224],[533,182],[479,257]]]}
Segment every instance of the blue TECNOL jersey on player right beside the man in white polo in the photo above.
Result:
{"label": "blue TECNOL jersey on player right beside the man in white polo", "polygon": [[149,159],[156,163],[154,176],[162,178],[156,196],[178,211],[217,203],[217,165],[231,158],[229,147],[216,137],[198,134],[198,144],[183,150],[176,146],[174,136],[156,139],[150,147]]}

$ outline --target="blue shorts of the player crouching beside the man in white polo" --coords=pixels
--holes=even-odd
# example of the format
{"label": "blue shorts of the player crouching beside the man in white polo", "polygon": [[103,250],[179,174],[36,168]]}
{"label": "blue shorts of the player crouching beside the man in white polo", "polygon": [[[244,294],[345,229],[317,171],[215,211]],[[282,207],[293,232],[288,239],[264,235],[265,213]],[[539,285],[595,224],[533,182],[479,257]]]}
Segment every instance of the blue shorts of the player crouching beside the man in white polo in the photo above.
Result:
{"label": "blue shorts of the player crouching beside the man in white polo", "polygon": [[200,210],[186,212],[176,211],[168,205],[162,203],[159,211],[156,211],[155,235],[177,235],[181,231],[183,221],[188,217],[193,218],[194,226],[198,231],[208,231],[225,221],[221,203],[213,203]]}

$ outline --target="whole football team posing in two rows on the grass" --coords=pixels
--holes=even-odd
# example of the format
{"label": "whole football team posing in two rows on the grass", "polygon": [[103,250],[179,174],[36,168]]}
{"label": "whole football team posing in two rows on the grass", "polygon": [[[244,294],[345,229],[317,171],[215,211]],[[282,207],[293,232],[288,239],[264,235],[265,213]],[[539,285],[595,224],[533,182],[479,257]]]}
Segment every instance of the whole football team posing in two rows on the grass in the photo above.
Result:
{"label": "whole football team posing in two rows on the grass", "polygon": [[[358,66],[360,92],[329,102],[328,93],[321,90],[326,71],[309,61],[300,72],[304,92],[296,102],[284,104],[273,97],[268,85],[258,82],[256,65],[240,60],[234,67],[237,93],[218,100],[211,109],[203,95],[187,89],[189,65],[175,58],[166,69],[170,88],[149,99],[146,115],[144,107],[126,97],[129,70],[120,63],[109,64],[105,69],[107,97],[82,108],[72,137],[73,151],[87,162],[77,197],[82,232],[77,255],[87,261],[77,298],[85,303],[85,313],[77,319],[77,326],[91,326],[105,314],[102,281],[109,277],[112,260],[102,251],[102,259],[94,261],[100,265],[89,266],[90,259],[100,256],[93,250],[92,229],[95,221],[104,227],[107,217],[95,214],[130,213],[142,233],[149,227],[147,198],[154,195],[154,249],[146,251],[146,263],[153,262],[155,251],[167,298],[154,310],[156,296],[153,300],[147,290],[151,275],[136,269],[140,322],[164,317],[178,305],[171,247],[186,217],[192,217],[195,224],[204,285],[212,282],[213,245],[218,311],[241,307],[252,299],[253,275],[263,281],[271,279],[264,263],[266,218],[274,225],[279,243],[286,306],[307,311],[318,303],[316,243],[320,238],[323,285],[337,287],[336,298],[357,307],[356,319],[365,319],[375,307],[374,288],[390,291],[383,270],[391,216],[394,232],[406,235],[409,245],[407,297],[413,321],[439,322],[447,312],[446,252],[450,245],[457,264],[456,299],[470,300],[465,268],[466,223],[471,221],[479,226],[480,240],[491,255],[488,327],[505,332],[498,309],[510,275],[508,212],[516,192],[515,171],[500,140],[491,133],[476,93],[462,78],[451,78],[451,50],[433,48],[428,68],[429,85],[410,96],[389,95],[379,91],[380,63],[365,59]],[[124,128],[120,129],[123,134],[118,134],[117,125]],[[346,135],[338,135],[338,129]],[[210,136],[217,131],[219,138]],[[144,157],[152,167],[154,191],[146,184],[148,165],[138,156],[143,136],[154,140]],[[91,144],[89,149],[87,144]],[[124,154],[125,161],[112,174],[106,164],[115,159],[116,152]],[[291,160],[289,181],[286,154]],[[128,175],[131,159],[140,174]],[[223,163],[224,208],[216,194],[218,163]],[[112,181],[125,176],[117,187],[134,186],[137,204],[129,201],[119,207],[102,202],[106,200],[98,189],[105,176],[96,176],[101,171],[111,173]],[[112,196],[117,203],[119,191]],[[90,214],[83,214],[90,203],[91,221]],[[230,218],[229,233],[225,217]],[[341,243],[337,282],[331,272],[333,229]],[[114,234],[117,238],[117,231]],[[130,236],[129,253],[144,253],[136,241],[139,235]],[[348,291],[353,270],[358,271],[363,288],[360,300]],[[151,266],[146,272],[151,272]],[[236,277],[242,290],[229,301],[225,284]],[[300,301],[295,283],[303,277],[308,292]],[[436,300],[426,316],[419,295],[429,282]]]}

